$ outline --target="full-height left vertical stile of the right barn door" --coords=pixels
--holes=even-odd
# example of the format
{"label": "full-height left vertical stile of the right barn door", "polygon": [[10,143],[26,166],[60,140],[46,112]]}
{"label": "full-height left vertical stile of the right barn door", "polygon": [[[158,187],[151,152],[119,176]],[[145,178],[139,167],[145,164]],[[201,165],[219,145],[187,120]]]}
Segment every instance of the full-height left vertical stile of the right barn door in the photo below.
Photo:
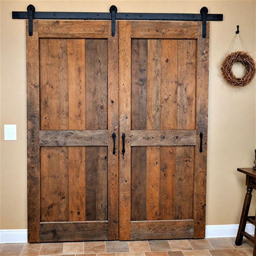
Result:
{"label": "full-height left vertical stile of the right barn door", "polygon": [[119,138],[125,138],[125,155],[119,140],[119,240],[130,240],[130,74],[131,24],[119,21]]}

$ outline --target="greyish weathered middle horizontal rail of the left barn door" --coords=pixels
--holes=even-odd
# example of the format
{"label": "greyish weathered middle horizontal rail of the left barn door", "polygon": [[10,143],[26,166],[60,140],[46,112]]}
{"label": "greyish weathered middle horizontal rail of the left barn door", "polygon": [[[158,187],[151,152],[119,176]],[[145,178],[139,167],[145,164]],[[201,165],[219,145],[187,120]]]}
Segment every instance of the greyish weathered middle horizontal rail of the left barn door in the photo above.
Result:
{"label": "greyish weathered middle horizontal rail of the left barn door", "polygon": [[107,146],[108,130],[40,130],[39,146]]}

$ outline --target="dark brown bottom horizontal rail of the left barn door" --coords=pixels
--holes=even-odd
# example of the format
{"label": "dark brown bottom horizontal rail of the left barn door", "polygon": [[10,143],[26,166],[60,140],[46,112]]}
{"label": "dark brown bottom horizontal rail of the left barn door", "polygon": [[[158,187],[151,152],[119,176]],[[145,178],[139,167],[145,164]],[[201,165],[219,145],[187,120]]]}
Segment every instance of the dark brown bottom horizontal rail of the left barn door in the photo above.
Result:
{"label": "dark brown bottom horizontal rail of the left barn door", "polygon": [[94,222],[41,222],[42,242],[106,240],[107,221]]}

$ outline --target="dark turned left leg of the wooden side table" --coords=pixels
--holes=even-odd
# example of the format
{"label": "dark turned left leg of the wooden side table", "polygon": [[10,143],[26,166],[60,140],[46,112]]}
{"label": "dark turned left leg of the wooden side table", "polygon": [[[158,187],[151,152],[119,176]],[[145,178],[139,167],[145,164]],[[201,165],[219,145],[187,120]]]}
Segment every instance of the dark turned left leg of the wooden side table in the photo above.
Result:
{"label": "dark turned left leg of the wooden side table", "polygon": [[240,218],[238,234],[236,236],[236,241],[235,241],[236,245],[242,244],[243,236],[241,235],[241,232],[245,231],[246,217],[248,216],[248,212],[249,212],[249,208],[250,208],[250,204],[251,204],[251,192],[252,192],[252,188],[247,186],[247,193],[245,195],[245,201],[244,201],[244,206],[242,208],[242,214],[241,214],[241,218]]}

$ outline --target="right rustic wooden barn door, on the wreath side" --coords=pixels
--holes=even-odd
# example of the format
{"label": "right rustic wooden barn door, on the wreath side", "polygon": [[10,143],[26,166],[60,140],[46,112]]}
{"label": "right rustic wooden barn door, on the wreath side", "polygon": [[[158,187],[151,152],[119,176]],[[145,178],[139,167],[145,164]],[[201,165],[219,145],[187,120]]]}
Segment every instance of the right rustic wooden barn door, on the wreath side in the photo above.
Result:
{"label": "right rustic wooden barn door, on the wreath side", "polygon": [[205,236],[208,45],[202,22],[119,23],[121,240]]}

